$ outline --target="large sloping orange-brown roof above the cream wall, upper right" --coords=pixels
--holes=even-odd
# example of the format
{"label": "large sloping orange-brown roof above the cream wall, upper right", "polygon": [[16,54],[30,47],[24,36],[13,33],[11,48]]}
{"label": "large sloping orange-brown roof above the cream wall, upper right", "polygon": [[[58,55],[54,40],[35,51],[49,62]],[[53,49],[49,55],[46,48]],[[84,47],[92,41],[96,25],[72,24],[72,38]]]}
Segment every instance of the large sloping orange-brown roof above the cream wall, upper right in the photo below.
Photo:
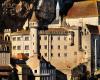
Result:
{"label": "large sloping orange-brown roof above the cream wall, upper right", "polygon": [[94,1],[74,2],[65,18],[98,16],[98,7]]}

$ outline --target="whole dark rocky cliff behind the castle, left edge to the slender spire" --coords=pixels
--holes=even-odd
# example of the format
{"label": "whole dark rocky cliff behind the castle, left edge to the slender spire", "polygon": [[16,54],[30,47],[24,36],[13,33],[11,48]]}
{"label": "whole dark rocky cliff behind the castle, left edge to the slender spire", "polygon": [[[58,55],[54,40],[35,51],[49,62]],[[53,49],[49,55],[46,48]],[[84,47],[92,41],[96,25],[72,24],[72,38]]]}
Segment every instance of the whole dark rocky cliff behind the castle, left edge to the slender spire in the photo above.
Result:
{"label": "whole dark rocky cliff behind the castle, left edge to the slender spire", "polygon": [[[65,4],[63,0],[59,1],[60,7]],[[33,11],[40,24],[50,24],[56,15],[56,4],[57,0],[0,0],[0,30],[22,28],[25,21],[31,19]]]}

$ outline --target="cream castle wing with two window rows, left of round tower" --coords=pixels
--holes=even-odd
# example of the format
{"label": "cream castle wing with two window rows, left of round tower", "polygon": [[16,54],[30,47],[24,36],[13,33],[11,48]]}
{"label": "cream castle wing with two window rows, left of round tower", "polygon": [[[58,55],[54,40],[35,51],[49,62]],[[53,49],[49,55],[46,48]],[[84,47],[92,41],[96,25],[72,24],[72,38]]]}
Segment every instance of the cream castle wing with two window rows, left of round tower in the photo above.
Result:
{"label": "cream castle wing with two window rows, left of round tower", "polygon": [[29,56],[30,54],[30,36],[29,31],[17,31],[11,33],[11,42],[12,42],[12,56],[17,55],[18,53],[24,53]]}

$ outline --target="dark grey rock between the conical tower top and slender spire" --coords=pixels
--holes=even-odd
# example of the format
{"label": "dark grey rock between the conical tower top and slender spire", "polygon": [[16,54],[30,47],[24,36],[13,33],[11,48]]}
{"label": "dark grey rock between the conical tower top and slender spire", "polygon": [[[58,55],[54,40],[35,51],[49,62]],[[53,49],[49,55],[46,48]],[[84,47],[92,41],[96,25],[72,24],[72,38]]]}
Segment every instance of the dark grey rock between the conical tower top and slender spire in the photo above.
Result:
{"label": "dark grey rock between the conical tower top and slender spire", "polygon": [[51,23],[56,15],[57,0],[42,0],[42,5],[39,10],[36,11],[36,16],[39,19],[39,23]]}

